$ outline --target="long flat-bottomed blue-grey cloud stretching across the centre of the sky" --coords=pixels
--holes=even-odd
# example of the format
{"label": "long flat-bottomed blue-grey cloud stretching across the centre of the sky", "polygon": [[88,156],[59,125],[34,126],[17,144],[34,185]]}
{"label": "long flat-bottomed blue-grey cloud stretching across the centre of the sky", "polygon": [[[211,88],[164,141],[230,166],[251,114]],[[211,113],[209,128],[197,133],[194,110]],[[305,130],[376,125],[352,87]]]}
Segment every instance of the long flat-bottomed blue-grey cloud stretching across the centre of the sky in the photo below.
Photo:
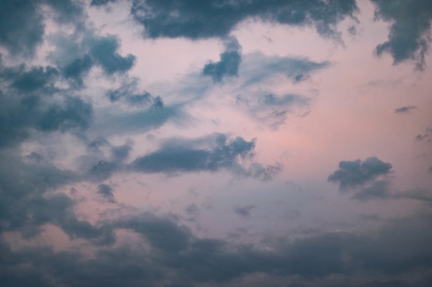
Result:
{"label": "long flat-bottomed blue-grey cloud stretching across the centre of the sky", "polygon": [[199,171],[219,171],[227,169],[241,176],[270,180],[282,167],[263,167],[252,162],[249,167],[242,160],[254,156],[255,139],[246,141],[237,137],[228,140],[224,134],[187,140],[173,138],[166,140],[161,149],[135,159],[130,168],[144,173],[186,173]]}

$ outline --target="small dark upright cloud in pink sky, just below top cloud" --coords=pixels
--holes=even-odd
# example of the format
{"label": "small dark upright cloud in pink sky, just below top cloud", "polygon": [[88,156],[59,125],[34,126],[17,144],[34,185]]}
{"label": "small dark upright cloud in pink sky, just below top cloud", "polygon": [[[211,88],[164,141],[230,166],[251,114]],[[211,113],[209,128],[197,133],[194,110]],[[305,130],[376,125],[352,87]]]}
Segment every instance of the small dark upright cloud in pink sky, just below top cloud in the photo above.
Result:
{"label": "small dark upright cloud in pink sky, just below top cloud", "polygon": [[237,39],[226,40],[225,51],[220,54],[219,62],[209,61],[204,66],[202,73],[211,76],[215,83],[222,82],[225,76],[237,76],[239,65],[242,62],[242,46]]}

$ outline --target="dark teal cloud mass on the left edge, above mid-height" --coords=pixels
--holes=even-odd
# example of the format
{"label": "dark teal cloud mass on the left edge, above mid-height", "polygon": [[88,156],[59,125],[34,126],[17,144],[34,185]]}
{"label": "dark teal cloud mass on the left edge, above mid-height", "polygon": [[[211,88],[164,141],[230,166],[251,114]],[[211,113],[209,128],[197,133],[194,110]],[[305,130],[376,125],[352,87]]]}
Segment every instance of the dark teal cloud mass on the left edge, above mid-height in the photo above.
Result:
{"label": "dark teal cloud mass on the left edge, above mid-height", "polygon": [[66,132],[90,126],[92,105],[55,87],[55,68],[5,67],[0,62],[0,79],[0,146],[21,142],[32,131]]}

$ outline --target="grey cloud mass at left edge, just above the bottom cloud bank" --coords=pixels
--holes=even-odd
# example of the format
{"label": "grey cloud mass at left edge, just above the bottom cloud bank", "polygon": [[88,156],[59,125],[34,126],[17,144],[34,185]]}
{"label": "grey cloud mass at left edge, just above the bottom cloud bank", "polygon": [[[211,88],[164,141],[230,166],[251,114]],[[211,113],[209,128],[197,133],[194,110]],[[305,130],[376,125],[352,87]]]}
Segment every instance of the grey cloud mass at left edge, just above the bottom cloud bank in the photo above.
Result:
{"label": "grey cloud mass at left edge, just above the bottom cloud bank", "polygon": [[47,193],[79,181],[77,173],[55,167],[38,153],[24,158],[14,153],[0,153],[0,156],[2,233],[19,231],[25,238],[35,237],[49,223],[59,226],[70,237],[109,242],[110,231],[77,219],[72,198],[64,193]]}

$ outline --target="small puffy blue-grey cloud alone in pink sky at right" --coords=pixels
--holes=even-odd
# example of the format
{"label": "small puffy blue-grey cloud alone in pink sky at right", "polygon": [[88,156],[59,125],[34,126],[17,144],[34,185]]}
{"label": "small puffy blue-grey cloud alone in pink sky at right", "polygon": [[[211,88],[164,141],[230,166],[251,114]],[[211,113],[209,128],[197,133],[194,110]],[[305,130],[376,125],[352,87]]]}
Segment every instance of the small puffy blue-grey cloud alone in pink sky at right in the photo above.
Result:
{"label": "small puffy blue-grey cloud alone in pink sky at right", "polygon": [[357,187],[390,173],[392,165],[372,156],[366,160],[342,161],[339,169],[328,176],[329,182],[339,182],[340,189]]}

